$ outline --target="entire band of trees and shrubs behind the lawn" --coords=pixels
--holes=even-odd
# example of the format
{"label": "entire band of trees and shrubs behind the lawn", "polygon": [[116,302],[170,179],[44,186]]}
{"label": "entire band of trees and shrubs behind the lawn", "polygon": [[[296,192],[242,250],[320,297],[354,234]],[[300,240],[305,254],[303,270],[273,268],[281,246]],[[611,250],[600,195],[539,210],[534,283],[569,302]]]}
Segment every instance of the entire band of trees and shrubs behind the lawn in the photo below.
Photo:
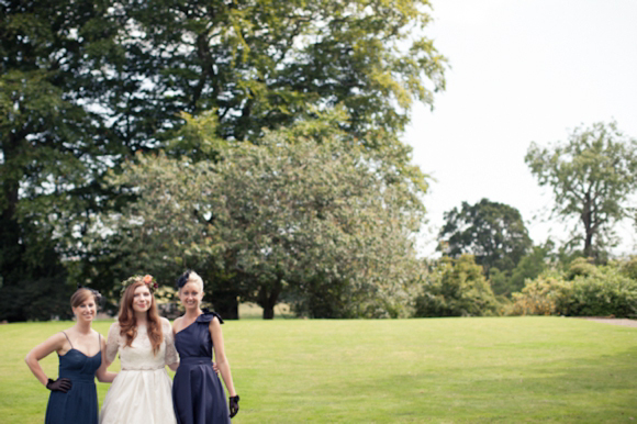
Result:
{"label": "entire band of trees and shrubs behind the lawn", "polygon": [[637,222],[637,141],[615,122],[529,144],[551,216],[579,223],[567,244],[483,199],[445,214],[442,259],[417,258],[431,179],[401,136],[448,69],[427,1],[0,3],[0,320],[69,317],[78,283],[113,312],[128,276],[187,268],[224,319],[245,301],[572,314],[637,293],[635,259],[608,256],[613,224]]}

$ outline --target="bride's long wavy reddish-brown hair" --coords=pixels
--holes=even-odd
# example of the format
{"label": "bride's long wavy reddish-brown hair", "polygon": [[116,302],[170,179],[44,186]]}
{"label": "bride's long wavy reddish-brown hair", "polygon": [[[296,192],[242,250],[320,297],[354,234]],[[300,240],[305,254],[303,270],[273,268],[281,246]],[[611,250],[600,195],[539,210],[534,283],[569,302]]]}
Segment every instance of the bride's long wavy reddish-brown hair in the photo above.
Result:
{"label": "bride's long wavy reddish-brown hair", "polygon": [[[135,294],[135,289],[139,286],[146,286],[142,277],[126,288],[120,303],[120,334],[126,337],[126,346],[131,346],[135,337],[137,337],[137,319],[135,317],[135,311],[133,311],[133,295]],[[153,345],[153,354],[157,355],[159,346],[164,342],[164,333],[161,332],[161,321],[159,320],[159,312],[157,312],[157,304],[153,293],[150,293],[150,309],[146,312],[146,325],[148,338],[150,339],[150,345]]]}

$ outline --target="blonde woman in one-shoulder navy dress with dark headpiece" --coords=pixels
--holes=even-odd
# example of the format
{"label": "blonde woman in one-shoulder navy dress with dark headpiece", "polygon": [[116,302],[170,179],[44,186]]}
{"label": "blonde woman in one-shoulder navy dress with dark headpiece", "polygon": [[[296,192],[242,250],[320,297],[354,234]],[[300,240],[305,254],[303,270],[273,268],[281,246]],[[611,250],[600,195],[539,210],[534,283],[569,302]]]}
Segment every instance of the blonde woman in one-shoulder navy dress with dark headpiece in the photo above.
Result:
{"label": "blonde woman in one-shoulder navy dress with dark headpiece", "polygon": [[[194,271],[186,271],[177,281],[179,299],[186,313],[175,320],[175,346],[179,368],[172,381],[172,403],[179,424],[230,423],[238,412],[239,397],[232,381],[230,364],[223,346],[221,324],[214,312],[201,310],[203,280]],[[225,392],[212,366],[212,354],[230,394],[230,412]]]}

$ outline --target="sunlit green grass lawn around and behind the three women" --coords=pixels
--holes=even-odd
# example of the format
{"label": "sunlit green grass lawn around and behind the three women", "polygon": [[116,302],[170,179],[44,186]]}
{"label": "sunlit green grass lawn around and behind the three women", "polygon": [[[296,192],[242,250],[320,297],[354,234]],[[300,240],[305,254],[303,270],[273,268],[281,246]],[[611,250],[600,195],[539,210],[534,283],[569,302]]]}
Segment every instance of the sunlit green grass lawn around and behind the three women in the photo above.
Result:
{"label": "sunlit green grass lawn around and behind the three women", "polygon": [[[0,422],[42,423],[24,355],[69,322],[0,325]],[[110,322],[97,322],[108,333]],[[637,328],[560,317],[223,325],[235,423],[635,423]],[[57,357],[43,360],[56,376]],[[119,368],[116,361],[111,370]],[[109,384],[98,384],[100,404]]]}

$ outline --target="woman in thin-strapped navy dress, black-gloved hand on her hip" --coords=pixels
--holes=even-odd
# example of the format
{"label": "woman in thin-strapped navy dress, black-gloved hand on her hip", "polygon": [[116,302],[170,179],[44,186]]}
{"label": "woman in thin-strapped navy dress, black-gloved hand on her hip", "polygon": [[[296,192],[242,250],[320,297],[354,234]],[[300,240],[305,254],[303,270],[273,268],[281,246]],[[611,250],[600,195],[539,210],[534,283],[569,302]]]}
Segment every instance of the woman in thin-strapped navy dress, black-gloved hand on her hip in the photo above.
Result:
{"label": "woman in thin-strapped navy dress, black-gloved hand on her hip", "polygon": [[[102,361],[104,338],[91,328],[97,314],[98,293],[78,289],[70,298],[76,324],[35,346],[24,360],[33,375],[48,390],[45,423],[98,423],[96,376],[101,382],[112,382],[116,373],[108,372]],[[40,360],[53,352],[59,357],[57,380],[47,378]]]}

